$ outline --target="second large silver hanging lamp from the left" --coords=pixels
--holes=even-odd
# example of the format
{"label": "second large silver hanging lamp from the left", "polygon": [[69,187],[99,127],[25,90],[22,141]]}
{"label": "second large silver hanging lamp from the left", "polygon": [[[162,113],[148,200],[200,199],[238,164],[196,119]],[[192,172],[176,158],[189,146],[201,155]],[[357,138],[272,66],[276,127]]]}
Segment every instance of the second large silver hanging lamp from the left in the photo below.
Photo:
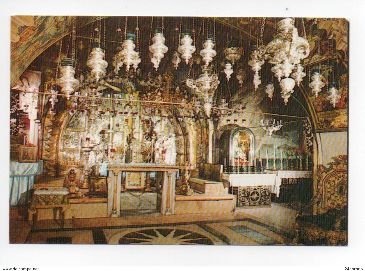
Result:
{"label": "second large silver hanging lamp from the left", "polygon": [[94,47],[91,50],[87,66],[91,68],[91,77],[95,83],[99,82],[101,78],[107,74],[108,62],[104,60],[105,53],[100,47]]}

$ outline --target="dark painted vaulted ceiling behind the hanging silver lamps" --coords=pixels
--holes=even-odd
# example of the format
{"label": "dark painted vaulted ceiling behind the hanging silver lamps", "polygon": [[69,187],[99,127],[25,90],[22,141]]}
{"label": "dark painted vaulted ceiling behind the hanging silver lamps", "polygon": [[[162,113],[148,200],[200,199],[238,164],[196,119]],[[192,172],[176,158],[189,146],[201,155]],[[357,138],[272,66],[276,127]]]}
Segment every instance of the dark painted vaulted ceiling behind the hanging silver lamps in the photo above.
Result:
{"label": "dark painted vaulted ceiling behind the hanging silver lamps", "polygon": [[[103,17],[104,18],[104,17]],[[93,29],[97,26],[101,17],[96,16],[79,16],[77,22],[77,60],[79,73],[85,72],[88,69],[86,61],[88,58],[88,51],[90,46],[90,37]],[[231,80],[227,82],[225,74],[223,73],[223,50],[227,40],[237,40],[238,46],[243,47],[244,55],[239,60],[239,65],[246,71],[245,85],[249,89],[253,87],[253,72],[247,62],[250,59],[250,51],[253,44],[260,39],[260,30],[263,18],[248,18],[248,17],[215,17],[210,18],[211,32],[213,32],[212,21],[215,21],[215,38],[217,56],[215,57],[215,71],[219,74],[220,85],[216,91],[216,101],[219,103],[220,98],[230,100],[235,94],[239,92],[247,93],[247,91],[237,83],[235,75],[233,74]],[[272,40],[276,31],[276,23],[282,18],[266,18],[265,28],[263,31],[262,40],[267,44]],[[317,20],[317,21],[316,21]],[[300,89],[296,87],[297,99],[300,103],[306,104],[306,108],[310,111],[315,129],[317,131],[327,130],[345,130],[347,128],[347,100],[343,99],[340,106],[333,108],[325,99],[326,94],[323,91],[319,98],[312,95],[308,83],[310,82],[311,69],[318,66],[327,66],[327,71],[333,70],[336,65],[328,62],[328,38],[332,35],[336,40],[336,49],[339,59],[339,68],[337,68],[338,76],[342,76],[342,89],[344,94],[347,92],[347,38],[348,38],[348,22],[345,19],[331,19],[331,18],[296,18],[296,27],[298,28],[300,36],[307,36],[311,45],[310,56],[303,61],[306,66],[307,76],[304,78]],[[69,33],[72,29],[72,18],[70,16],[12,16],[11,19],[11,86],[19,78],[19,76],[31,65],[30,68],[41,70],[45,72],[47,69],[55,70],[55,60],[58,57],[59,43],[61,38],[64,38],[64,44],[69,42]],[[115,54],[118,40],[123,39],[118,35],[124,36],[124,26],[126,17],[106,17],[106,60],[109,63],[108,72],[113,70],[111,65],[112,56]],[[314,22],[318,22],[315,24]],[[134,32],[137,26],[137,17],[128,17],[127,32]],[[141,59],[139,64],[141,73],[149,71],[154,72],[153,64],[150,62],[148,46],[150,44],[151,24],[154,27],[161,25],[161,17],[139,17],[140,29],[140,44]],[[195,38],[197,40],[197,52],[201,50],[203,43],[203,36],[206,35],[208,19],[203,17],[164,17],[165,26],[165,44],[169,47],[169,52],[165,58],[162,59],[158,72],[163,74],[167,70],[174,69],[170,64],[170,57],[173,48],[177,46],[177,36],[180,28],[192,28],[195,25]],[[303,25],[304,23],[304,25]],[[180,27],[180,24],[181,27]],[[122,31],[118,32],[120,28]],[[320,31],[318,31],[318,29]],[[176,30],[179,29],[179,30]],[[305,29],[305,31],[304,31]],[[227,32],[229,33],[227,36]],[[80,45],[82,43],[82,46]],[[318,45],[320,46],[320,54],[318,54]],[[82,48],[83,50],[82,50]],[[66,47],[64,46],[64,50]],[[196,53],[195,53],[196,54]],[[36,60],[36,61],[35,61]],[[236,66],[238,66],[236,64]],[[261,71],[262,84],[258,91],[264,91],[265,85],[270,82],[276,82],[270,71],[271,66],[265,63]],[[323,70],[326,67],[323,68]],[[235,68],[237,71],[237,67]],[[191,78],[197,78],[200,74],[198,64],[193,64],[191,71],[189,67],[180,63],[179,69],[174,73],[175,81],[178,84],[184,85],[184,79],[190,72]],[[327,82],[326,82],[327,83]],[[275,83],[276,84],[276,83]],[[276,84],[276,96],[280,97],[280,87]],[[245,94],[241,94],[245,95]],[[343,95],[344,96],[344,95]],[[295,115],[295,112],[292,112]]]}

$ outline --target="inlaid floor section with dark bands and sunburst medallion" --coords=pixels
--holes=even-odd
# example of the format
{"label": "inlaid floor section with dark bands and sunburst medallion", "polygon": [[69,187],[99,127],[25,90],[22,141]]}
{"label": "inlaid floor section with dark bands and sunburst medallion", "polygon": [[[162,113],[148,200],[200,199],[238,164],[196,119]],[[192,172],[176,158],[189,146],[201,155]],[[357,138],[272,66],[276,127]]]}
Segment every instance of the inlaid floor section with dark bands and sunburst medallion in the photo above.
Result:
{"label": "inlaid floor section with dark bands and sunburst medallion", "polygon": [[[50,226],[52,221],[49,221]],[[30,230],[24,243],[285,245],[289,233],[251,218],[160,225],[68,227]]]}

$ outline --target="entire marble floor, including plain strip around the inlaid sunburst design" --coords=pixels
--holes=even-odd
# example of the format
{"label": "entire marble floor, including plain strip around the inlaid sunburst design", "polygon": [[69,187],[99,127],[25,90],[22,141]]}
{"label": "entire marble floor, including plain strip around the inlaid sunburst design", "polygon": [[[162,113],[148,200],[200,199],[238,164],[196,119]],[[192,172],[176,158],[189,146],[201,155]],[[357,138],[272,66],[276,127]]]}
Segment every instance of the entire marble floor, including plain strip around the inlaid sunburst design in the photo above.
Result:
{"label": "entire marble floor, including plain strip around the inlaid sunburst design", "polygon": [[232,213],[162,216],[160,213],[122,213],[119,218],[66,219],[64,227],[39,220],[34,229],[11,209],[9,243],[28,244],[289,244],[293,210],[273,203],[271,208],[246,208]]}

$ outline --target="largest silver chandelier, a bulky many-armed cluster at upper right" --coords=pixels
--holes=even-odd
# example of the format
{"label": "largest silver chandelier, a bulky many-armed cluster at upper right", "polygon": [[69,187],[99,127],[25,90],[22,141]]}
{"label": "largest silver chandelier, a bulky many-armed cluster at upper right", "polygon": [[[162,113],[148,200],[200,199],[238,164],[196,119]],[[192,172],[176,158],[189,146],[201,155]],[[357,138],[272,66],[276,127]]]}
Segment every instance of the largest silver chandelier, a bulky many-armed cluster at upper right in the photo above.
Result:
{"label": "largest silver chandelier, a bulky many-armed cluster at upper right", "polygon": [[[267,53],[265,57],[269,59],[269,63],[274,64],[272,72],[280,82],[282,97],[285,97],[283,97],[285,105],[291,93],[294,92],[295,82],[299,85],[301,80],[303,80],[302,78],[306,76],[300,62],[310,52],[308,41],[298,35],[298,30],[294,26],[294,22],[292,18],[279,21],[277,24],[278,34],[265,48]],[[293,69],[295,69],[294,72]],[[295,80],[288,78],[291,74]],[[284,83],[281,83],[282,77],[291,80],[285,80]]]}

